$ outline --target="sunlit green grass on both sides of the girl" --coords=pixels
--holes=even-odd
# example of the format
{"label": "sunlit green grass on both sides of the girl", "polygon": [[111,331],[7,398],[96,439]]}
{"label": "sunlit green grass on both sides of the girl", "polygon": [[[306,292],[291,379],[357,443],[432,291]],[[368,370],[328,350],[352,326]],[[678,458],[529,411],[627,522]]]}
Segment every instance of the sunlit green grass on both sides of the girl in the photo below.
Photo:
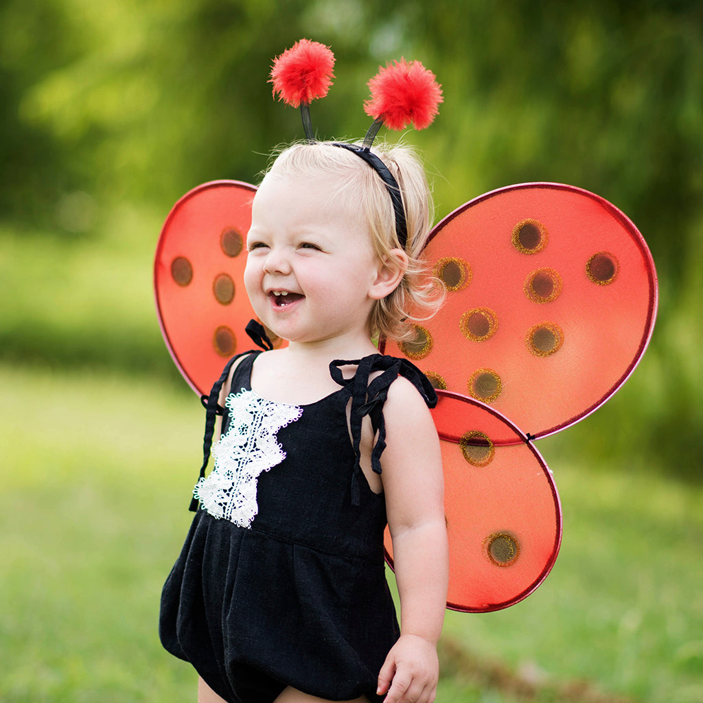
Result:
{"label": "sunlit green grass on both sides of the girl", "polygon": [[[0,700],[195,700],[193,672],[157,639],[200,462],[195,396],[11,365],[0,394]],[[587,470],[565,440],[544,442],[560,557],[522,603],[448,614],[439,701],[703,700],[703,489]]]}

